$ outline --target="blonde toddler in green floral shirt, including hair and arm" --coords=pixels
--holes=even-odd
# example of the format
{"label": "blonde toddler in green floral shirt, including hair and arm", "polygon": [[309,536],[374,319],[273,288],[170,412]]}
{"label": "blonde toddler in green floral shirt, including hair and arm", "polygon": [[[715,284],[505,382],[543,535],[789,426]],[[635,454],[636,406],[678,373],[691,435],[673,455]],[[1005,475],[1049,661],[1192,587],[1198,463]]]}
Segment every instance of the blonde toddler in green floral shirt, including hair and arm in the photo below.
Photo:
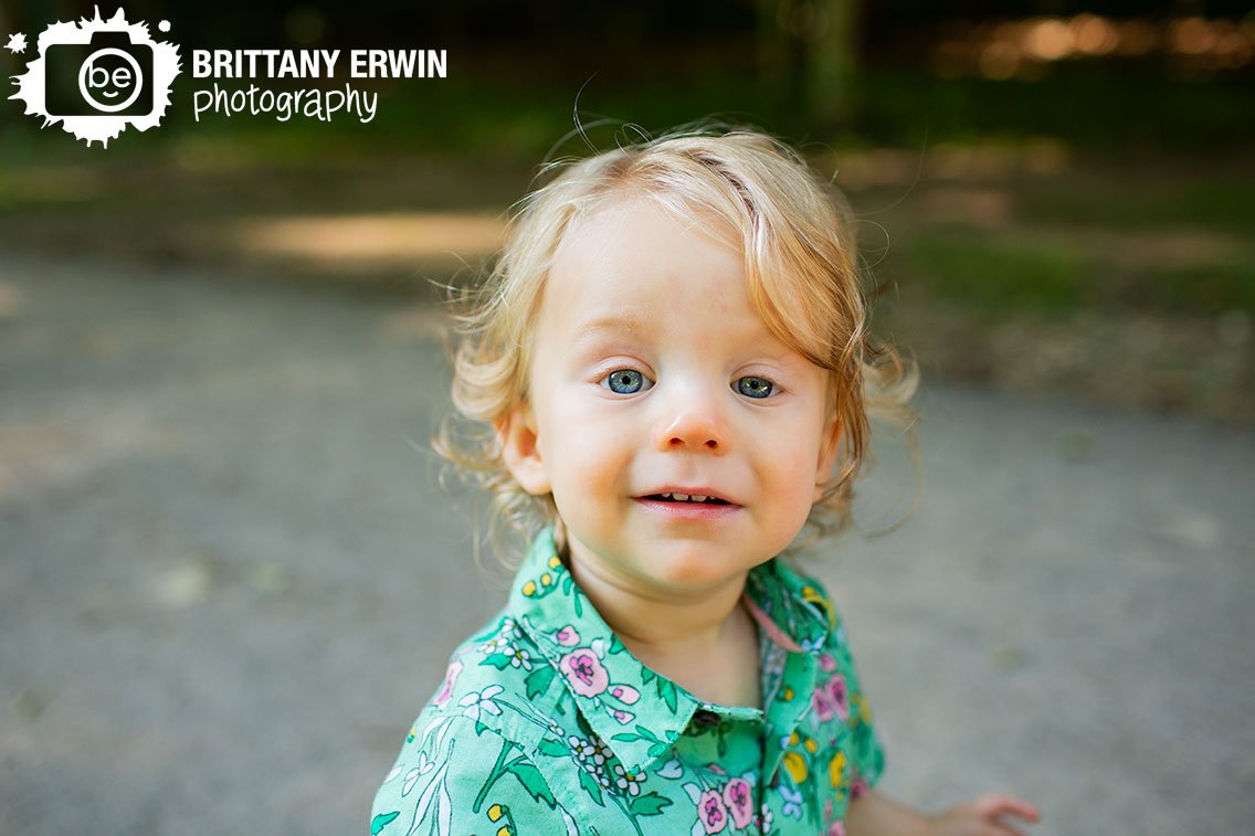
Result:
{"label": "blonde toddler in green floral shirt, including hair and arm", "polygon": [[848,522],[868,412],[914,372],[865,331],[828,185],[761,133],[561,168],[463,325],[442,434],[536,521],[510,603],[452,656],[375,797],[383,833],[990,833],[873,786],[832,601],[782,552]]}

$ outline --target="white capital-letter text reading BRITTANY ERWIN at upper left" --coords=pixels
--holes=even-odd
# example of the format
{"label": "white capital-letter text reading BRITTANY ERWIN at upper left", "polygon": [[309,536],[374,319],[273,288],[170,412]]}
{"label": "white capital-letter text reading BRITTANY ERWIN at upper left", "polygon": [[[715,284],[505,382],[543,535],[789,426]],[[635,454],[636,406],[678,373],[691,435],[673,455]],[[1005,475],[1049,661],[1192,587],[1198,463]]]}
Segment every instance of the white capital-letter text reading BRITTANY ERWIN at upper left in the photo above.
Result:
{"label": "white capital-letter text reading BRITTANY ERWIN at upper left", "polygon": [[[339,49],[193,49],[193,78],[334,78]],[[353,49],[351,78],[447,78],[443,49]]]}

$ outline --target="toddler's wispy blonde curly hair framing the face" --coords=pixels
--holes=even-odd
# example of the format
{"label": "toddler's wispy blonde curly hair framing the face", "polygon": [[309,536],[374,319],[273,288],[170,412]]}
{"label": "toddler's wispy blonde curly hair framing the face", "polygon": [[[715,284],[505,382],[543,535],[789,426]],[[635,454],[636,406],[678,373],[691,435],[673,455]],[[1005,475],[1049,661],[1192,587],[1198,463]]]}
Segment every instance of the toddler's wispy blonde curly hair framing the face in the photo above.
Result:
{"label": "toddler's wispy blonde curly hair framing the face", "polygon": [[458,300],[456,413],[433,439],[441,456],[491,492],[493,533],[506,523],[530,537],[553,525],[562,540],[552,496],[532,496],[513,480],[494,428],[527,399],[531,326],[562,236],[577,218],[629,192],[678,217],[705,213],[724,221],[718,226],[737,233],[730,244],[744,254],[749,297],[772,334],[830,372],[828,403],[842,449],[836,476],[811,510],[807,542],[850,525],[871,418],[899,427],[917,463],[917,417],[910,407],[917,367],[868,333],[848,203],[787,144],[754,129],[685,128],[584,159],[553,161],[537,180],[547,182],[515,205],[491,274]]}

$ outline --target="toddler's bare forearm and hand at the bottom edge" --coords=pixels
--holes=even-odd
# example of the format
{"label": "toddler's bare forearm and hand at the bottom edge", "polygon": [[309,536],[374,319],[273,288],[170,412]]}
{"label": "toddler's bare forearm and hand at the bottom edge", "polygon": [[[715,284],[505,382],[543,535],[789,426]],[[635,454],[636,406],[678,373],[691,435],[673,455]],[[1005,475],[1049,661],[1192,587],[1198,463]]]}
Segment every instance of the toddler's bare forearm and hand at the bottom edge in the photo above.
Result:
{"label": "toddler's bare forearm and hand at the bottom edge", "polygon": [[846,810],[850,836],[1019,836],[1007,816],[1037,821],[1037,808],[1012,796],[980,796],[937,816],[921,816],[875,790],[851,798]]}

